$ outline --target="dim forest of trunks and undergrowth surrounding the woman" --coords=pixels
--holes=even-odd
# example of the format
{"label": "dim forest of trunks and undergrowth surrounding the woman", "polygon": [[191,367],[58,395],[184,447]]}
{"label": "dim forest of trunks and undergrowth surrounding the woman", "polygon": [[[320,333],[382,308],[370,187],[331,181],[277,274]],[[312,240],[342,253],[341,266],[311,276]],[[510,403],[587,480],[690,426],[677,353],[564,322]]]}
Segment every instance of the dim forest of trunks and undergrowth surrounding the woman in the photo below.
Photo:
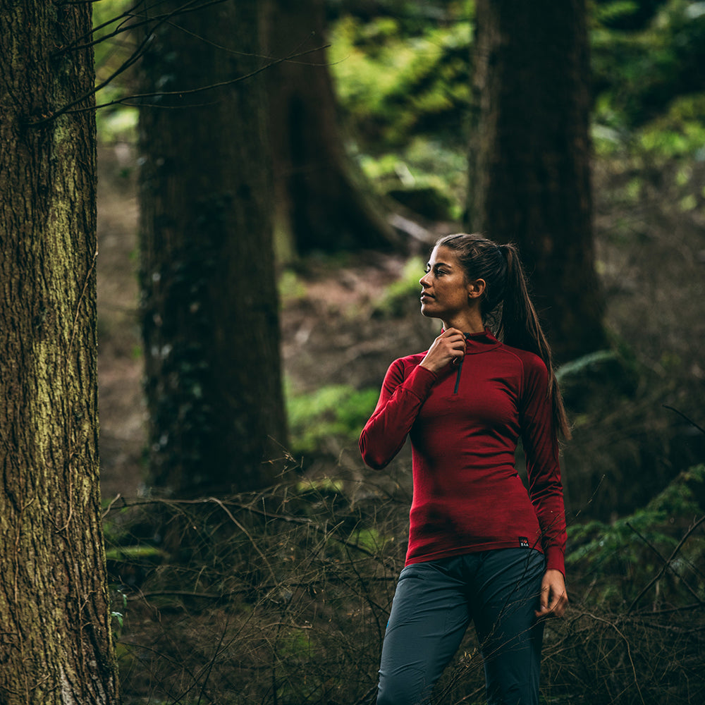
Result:
{"label": "dim forest of trunks and undergrowth surrounding the woman", "polygon": [[412,457],[358,438],[458,232],[572,430],[541,702],[701,704],[703,66],[694,0],[2,0],[0,705],[374,703]]}

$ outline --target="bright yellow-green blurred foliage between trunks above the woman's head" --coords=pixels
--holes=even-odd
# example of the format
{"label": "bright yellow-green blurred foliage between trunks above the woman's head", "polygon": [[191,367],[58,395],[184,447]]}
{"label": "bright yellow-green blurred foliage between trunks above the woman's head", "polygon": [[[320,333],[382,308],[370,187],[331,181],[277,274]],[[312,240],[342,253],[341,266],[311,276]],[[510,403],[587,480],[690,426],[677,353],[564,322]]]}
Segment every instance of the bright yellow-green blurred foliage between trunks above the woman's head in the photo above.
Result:
{"label": "bright yellow-green blurred foliage between trunks above the woman's head", "polygon": [[[433,190],[459,219],[465,200],[472,6],[421,6],[331,27],[331,71],[364,173],[384,193]],[[432,14],[432,18],[430,18]]]}

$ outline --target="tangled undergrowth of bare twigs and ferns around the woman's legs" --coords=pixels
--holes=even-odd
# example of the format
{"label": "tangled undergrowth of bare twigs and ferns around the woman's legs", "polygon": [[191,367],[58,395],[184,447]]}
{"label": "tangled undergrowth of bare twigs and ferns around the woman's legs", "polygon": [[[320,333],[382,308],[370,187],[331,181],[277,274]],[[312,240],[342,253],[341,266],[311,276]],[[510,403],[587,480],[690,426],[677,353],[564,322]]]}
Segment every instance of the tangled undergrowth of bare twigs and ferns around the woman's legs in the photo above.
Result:
{"label": "tangled undergrowth of bare twigs and ferns around the woman's legs", "polygon": [[[570,529],[571,606],[546,625],[546,703],[705,696],[705,467],[613,525]],[[106,510],[123,701],[372,704],[406,544],[382,486],[300,477],[260,494]],[[468,631],[436,701],[484,702]]]}

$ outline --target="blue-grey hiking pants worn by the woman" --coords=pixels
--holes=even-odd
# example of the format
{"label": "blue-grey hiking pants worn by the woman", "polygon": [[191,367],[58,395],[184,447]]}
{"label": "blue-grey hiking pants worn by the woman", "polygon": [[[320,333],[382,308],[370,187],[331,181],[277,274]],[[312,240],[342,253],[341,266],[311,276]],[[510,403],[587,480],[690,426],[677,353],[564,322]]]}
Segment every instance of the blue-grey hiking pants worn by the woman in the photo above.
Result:
{"label": "blue-grey hiking pants worn by the woman", "polygon": [[424,705],[474,622],[489,705],[537,705],[544,556],[503,548],[407,565],[384,635],[377,705]]}

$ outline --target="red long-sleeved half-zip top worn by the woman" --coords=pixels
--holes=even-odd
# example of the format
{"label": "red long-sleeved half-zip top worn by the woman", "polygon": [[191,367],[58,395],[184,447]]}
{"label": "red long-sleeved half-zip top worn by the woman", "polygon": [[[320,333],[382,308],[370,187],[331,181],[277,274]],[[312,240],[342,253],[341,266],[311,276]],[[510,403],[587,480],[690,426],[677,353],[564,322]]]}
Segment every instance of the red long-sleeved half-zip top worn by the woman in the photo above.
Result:
{"label": "red long-sleeved half-zip top worn by the woman", "polygon": [[[395,360],[360,436],[381,470],[409,436],[414,495],[406,565],[496,548],[537,548],[564,572],[565,512],[558,441],[540,357],[467,336],[465,357],[441,372],[426,353]],[[515,468],[521,436],[528,492]]]}

